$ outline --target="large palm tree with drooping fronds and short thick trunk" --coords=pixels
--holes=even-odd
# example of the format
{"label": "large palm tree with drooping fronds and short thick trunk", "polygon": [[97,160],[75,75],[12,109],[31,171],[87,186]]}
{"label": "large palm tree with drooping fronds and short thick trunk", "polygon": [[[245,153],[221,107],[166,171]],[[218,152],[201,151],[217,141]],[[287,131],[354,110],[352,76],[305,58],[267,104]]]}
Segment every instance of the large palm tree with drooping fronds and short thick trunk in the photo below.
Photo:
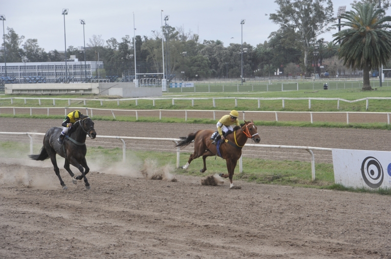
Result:
{"label": "large palm tree with drooping fronds and short thick trunk", "polygon": [[[341,25],[350,27],[333,35],[333,41],[341,41],[339,58],[344,65],[353,69],[363,69],[363,90],[371,90],[369,70],[386,64],[391,57],[391,28],[387,22],[391,16],[379,19],[384,13],[383,9],[375,9],[374,4],[357,3],[353,6],[355,11],[348,11],[341,15],[348,20]],[[337,26],[337,24],[335,24]]]}

